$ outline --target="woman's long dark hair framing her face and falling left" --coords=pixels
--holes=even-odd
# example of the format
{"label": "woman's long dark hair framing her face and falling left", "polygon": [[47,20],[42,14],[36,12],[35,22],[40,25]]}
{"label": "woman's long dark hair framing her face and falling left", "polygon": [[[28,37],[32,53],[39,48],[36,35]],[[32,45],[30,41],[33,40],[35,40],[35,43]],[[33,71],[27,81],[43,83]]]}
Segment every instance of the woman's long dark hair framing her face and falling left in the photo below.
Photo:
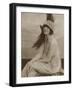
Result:
{"label": "woman's long dark hair framing her face and falling left", "polygon": [[53,30],[48,25],[44,24],[43,26],[40,26],[41,34],[39,35],[38,40],[32,46],[35,47],[36,49],[40,48],[40,46],[45,42],[45,34],[43,31],[44,27],[48,27],[50,29],[49,35],[53,34]]}

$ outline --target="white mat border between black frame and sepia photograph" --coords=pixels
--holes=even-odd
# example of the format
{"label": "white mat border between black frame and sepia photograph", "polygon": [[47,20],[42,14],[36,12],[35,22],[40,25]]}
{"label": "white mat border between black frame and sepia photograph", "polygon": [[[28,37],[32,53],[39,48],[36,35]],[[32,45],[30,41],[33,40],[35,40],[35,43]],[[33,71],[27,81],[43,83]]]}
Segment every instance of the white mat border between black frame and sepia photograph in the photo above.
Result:
{"label": "white mat border between black frame and sepia photograph", "polygon": [[[64,14],[64,76],[21,78],[21,12]],[[32,7],[16,8],[16,83],[55,82],[69,80],[69,11]]]}

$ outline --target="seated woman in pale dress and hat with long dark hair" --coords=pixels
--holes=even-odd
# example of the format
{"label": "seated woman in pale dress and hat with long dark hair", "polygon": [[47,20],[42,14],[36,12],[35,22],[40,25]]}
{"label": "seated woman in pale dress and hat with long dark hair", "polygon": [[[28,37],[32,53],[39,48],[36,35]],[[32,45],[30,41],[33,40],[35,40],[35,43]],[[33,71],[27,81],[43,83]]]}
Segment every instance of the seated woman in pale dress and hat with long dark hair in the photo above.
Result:
{"label": "seated woman in pale dress and hat with long dark hair", "polygon": [[22,70],[22,77],[51,75],[60,71],[61,60],[57,41],[54,38],[53,18],[47,20],[41,28],[39,39],[33,45],[38,54]]}

